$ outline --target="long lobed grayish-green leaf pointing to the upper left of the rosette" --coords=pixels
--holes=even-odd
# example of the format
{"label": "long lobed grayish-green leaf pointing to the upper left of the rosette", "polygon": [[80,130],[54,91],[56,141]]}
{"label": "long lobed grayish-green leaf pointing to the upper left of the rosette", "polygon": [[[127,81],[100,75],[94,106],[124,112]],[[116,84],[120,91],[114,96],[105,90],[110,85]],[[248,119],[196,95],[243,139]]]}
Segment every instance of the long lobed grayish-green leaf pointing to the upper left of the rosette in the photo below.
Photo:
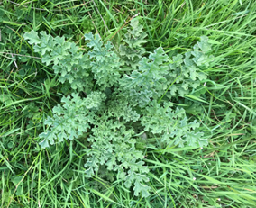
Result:
{"label": "long lobed grayish-green leaf pointing to the upper left of the rosette", "polygon": [[41,53],[43,63],[47,66],[53,64],[52,68],[59,74],[61,83],[69,81],[73,89],[88,91],[92,87],[88,55],[78,51],[78,46],[74,42],[65,41],[64,37],[53,38],[46,32],[40,32],[40,35],[32,31],[25,33],[24,39],[34,44],[34,51]]}

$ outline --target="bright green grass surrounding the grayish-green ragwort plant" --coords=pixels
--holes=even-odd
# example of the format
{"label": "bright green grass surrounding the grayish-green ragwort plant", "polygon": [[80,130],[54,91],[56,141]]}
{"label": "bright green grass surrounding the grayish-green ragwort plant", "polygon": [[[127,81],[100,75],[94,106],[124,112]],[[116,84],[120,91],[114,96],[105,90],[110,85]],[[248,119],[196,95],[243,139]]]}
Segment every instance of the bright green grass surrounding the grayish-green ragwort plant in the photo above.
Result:
{"label": "bright green grass surrounding the grayish-green ragwort plant", "polygon": [[[223,1],[3,1],[0,3],[1,207],[255,207],[256,4]],[[40,149],[38,134],[59,103],[61,86],[23,40],[31,30],[65,36],[84,47],[86,32],[118,45],[125,21],[138,14],[147,50],[172,56],[201,35],[214,43],[206,103],[184,104],[212,134],[207,148],[148,149],[151,196],[134,197],[122,183],[84,176],[83,140]],[[124,25],[124,26],[123,26]],[[212,82],[211,80],[215,81]],[[64,86],[65,87],[65,86]]]}

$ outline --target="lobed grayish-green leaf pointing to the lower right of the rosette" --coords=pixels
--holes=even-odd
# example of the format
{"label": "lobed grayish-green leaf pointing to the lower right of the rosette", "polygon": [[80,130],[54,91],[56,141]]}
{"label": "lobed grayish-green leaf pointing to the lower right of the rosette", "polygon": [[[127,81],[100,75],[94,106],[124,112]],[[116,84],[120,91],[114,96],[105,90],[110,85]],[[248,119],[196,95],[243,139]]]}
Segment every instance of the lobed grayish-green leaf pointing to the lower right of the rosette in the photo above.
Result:
{"label": "lobed grayish-green leaf pointing to the lower right of the rosette", "polygon": [[206,146],[208,141],[202,139],[204,133],[194,131],[199,123],[196,120],[188,122],[183,109],[176,108],[174,112],[169,105],[160,106],[154,101],[146,107],[141,119],[145,131],[162,135],[160,141],[165,145],[173,142],[179,147],[184,147],[186,143],[192,147]]}

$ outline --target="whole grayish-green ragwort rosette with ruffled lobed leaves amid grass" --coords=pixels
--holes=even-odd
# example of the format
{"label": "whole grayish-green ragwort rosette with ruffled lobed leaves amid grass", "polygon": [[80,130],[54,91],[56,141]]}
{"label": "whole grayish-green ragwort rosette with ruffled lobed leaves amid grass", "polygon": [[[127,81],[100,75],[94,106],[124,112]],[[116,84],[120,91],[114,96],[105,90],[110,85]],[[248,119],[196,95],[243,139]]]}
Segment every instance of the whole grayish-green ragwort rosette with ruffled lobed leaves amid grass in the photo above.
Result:
{"label": "whole grayish-green ragwort rosette with ruffled lobed leaves amid grass", "polygon": [[[212,57],[207,55],[211,47],[206,36],[185,57],[177,54],[170,59],[162,48],[142,57],[146,34],[137,20],[132,27],[119,54],[110,41],[104,44],[91,32],[85,34],[87,53],[64,37],[53,38],[46,32],[32,31],[24,38],[41,53],[43,63],[52,65],[59,82],[69,82],[73,90],[44,122],[48,131],[39,135],[41,148],[87,132],[86,175],[107,168],[127,188],[133,186],[134,195],[146,197],[149,168],[143,162],[145,149],[137,149],[142,136],[160,138],[164,148],[207,145],[209,138],[198,131],[199,122],[189,121],[185,110],[173,107],[169,100],[197,90],[206,79],[201,69]],[[123,67],[131,70],[126,73]]]}

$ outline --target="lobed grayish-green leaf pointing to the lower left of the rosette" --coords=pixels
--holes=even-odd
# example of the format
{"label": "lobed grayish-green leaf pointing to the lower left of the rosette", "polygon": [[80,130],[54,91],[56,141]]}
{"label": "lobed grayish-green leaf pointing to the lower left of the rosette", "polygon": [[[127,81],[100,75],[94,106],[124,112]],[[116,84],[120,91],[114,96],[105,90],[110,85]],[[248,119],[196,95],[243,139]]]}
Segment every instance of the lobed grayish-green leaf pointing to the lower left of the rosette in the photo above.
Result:
{"label": "lobed grayish-green leaf pointing to the lower left of the rosette", "polygon": [[[49,143],[54,144],[56,141],[62,142],[64,139],[78,138],[87,131],[87,128],[90,128],[89,123],[92,122],[94,113],[88,113],[87,100],[91,101],[91,97],[81,99],[76,94],[72,94],[72,96],[72,99],[70,96],[63,97],[61,102],[64,104],[55,106],[52,109],[53,117],[48,117],[44,122],[51,128],[50,131],[39,135],[43,139],[40,143],[41,148],[47,148]],[[89,104],[89,107],[91,106],[97,106],[97,103]]]}

